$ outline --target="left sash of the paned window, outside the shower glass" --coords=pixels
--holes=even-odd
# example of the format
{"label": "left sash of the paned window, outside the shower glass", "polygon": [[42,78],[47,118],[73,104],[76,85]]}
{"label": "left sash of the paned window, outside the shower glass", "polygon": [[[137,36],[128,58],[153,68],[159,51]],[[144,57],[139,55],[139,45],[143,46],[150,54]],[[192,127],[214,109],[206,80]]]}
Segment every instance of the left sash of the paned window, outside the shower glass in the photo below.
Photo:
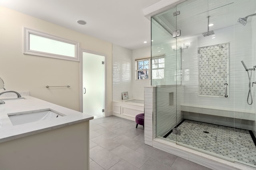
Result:
{"label": "left sash of the paned window, outside the shower glass", "polygon": [[136,79],[150,79],[150,59],[136,60]]}

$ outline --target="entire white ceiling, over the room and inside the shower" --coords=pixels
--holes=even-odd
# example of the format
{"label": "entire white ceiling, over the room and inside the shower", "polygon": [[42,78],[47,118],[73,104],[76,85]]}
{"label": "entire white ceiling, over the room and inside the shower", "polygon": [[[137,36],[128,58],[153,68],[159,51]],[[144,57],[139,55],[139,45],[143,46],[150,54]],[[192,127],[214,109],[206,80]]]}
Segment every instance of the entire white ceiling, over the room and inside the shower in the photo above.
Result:
{"label": "entire white ceiling, over the room and inside the shower", "polygon": [[[150,20],[144,17],[143,10],[160,1],[0,0],[0,6],[133,50],[150,46]],[[177,27],[182,27],[183,37],[191,33],[202,36],[201,33],[207,31],[207,16],[211,16],[210,21],[214,22],[210,29],[221,29],[239,24],[237,20],[240,17],[254,14],[255,6],[256,0],[186,1],[177,7],[177,10],[181,11],[177,17]],[[167,30],[172,33],[176,28],[176,18],[172,16],[175,11],[176,9],[168,10],[155,16],[155,20],[161,22],[165,32]],[[85,20],[87,24],[79,25],[77,20]],[[251,18],[248,18],[248,21],[251,21]],[[163,41],[166,35],[169,39],[169,33],[157,35],[154,42],[157,43],[158,39]],[[144,41],[148,43],[143,43]]]}

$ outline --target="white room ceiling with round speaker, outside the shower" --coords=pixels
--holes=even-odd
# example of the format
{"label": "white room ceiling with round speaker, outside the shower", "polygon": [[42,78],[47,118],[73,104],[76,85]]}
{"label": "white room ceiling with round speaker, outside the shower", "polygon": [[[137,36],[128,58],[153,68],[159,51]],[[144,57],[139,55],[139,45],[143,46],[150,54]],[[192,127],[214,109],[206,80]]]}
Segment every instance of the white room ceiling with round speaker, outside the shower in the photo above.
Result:
{"label": "white room ceiling with round speaker, outside the shower", "polygon": [[[0,6],[120,45],[150,46],[143,9],[160,0],[0,0]],[[77,20],[85,20],[79,25]],[[144,43],[147,41],[148,43]]]}

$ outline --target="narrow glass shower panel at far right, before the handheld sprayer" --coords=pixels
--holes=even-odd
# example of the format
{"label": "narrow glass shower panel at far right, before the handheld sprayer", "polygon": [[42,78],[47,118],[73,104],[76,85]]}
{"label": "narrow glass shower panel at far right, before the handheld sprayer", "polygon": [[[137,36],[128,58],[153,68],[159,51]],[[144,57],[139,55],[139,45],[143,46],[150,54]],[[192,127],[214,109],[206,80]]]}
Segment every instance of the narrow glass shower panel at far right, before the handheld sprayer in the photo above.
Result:
{"label": "narrow glass shower panel at far right, before the handheld sprayer", "polygon": [[239,133],[234,143],[234,160],[256,168],[256,84],[252,86],[256,82],[256,16],[248,17],[246,24],[241,21],[256,14],[256,1],[236,0],[234,9],[234,133]]}

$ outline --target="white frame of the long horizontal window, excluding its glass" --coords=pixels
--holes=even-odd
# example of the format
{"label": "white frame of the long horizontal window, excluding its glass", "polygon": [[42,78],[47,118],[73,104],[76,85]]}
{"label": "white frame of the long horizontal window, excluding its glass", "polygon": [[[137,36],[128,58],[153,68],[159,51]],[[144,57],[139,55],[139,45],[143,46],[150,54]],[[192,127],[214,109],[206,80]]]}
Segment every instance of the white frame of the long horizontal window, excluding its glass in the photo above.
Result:
{"label": "white frame of the long horizontal window, excluding its glass", "polygon": [[[74,57],[69,57],[69,56],[65,56],[65,55],[58,55],[58,54],[46,53],[46,52],[42,52],[42,51],[30,50],[30,34],[38,35],[40,37],[45,37],[45,38],[48,38],[48,39],[53,39],[53,40],[56,40],[56,41],[61,41],[61,42],[64,42],[64,43],[72,44],[72,45],[75,46],[75,51],[74,51],[75,55],[74,55]],[[29,28],[26,28],[26,27],[24,27],[24,45],[23,46],[24,46],[24,48],[23,48],[23,53],[24,54],[80,62],[80,59],[79,59],[79,43],[78,42],[70,41],[70,40],[67,40],[67,39],[60,38],[60,37],[56,37],[54,35],[50,35],[50,34],[47,34],[47,33],[42,33],[40,31],[36,31],[36,30],[29,29]]]}

